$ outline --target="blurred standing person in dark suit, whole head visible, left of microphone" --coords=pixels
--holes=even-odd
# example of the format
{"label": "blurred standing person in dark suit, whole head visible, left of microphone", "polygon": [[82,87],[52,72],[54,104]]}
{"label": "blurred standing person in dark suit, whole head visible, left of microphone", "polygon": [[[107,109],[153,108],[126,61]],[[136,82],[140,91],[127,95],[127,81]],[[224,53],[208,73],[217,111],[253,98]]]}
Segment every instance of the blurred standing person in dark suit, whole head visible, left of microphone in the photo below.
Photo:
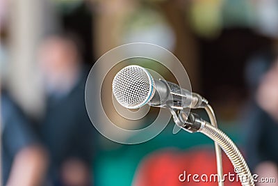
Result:
{"label": "blurred standing person in dark suit, whole head visible, left of microphone", "polygon": [[49,151],[52,185],[92,184],[92,124],[85,109],[86,68],[67,34],[48,36],[39,51],[46,109],[38,131]]}

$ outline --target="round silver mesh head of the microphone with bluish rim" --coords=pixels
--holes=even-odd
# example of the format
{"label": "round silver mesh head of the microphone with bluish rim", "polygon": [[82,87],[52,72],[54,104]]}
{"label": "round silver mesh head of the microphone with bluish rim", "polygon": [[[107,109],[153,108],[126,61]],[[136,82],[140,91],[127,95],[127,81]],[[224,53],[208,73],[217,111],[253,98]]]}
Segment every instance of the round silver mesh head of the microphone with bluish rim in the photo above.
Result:
{"label": "round silver mesh head of the microphone with bluish rim", "polygon": [[152,100],[155,93],[154,79],[145,68],[129,65],[117,72],[112,90],[117,102],[123,107],[137,109]]}

